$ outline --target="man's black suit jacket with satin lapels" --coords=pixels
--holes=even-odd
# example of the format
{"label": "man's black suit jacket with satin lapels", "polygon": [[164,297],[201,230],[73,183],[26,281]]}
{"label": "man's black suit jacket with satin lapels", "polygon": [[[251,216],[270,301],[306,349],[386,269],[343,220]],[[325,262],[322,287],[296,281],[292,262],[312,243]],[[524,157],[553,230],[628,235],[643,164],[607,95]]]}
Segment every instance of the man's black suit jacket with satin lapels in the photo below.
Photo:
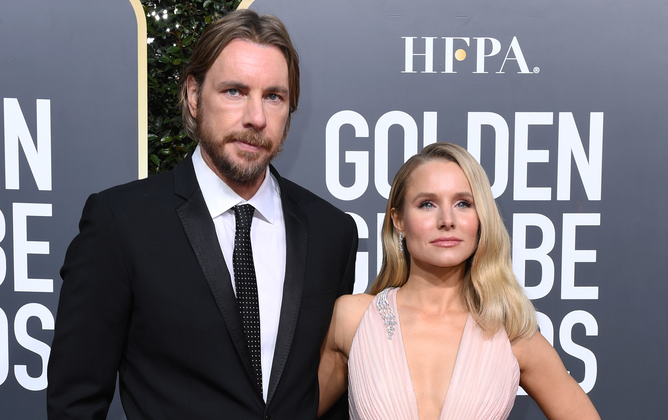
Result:
{"label": "man's black suit jacket with satin lapels", "polygon": [[[315,419],[319,347],[335,299],[353,290],[357,228],[271,171],[287,251],[267,403],[186,158],[172,172],[88,198],[61,269],[49,419],[105,419],[117,371],[129,420]],[[347,417],[347,401],[339,409]]]}

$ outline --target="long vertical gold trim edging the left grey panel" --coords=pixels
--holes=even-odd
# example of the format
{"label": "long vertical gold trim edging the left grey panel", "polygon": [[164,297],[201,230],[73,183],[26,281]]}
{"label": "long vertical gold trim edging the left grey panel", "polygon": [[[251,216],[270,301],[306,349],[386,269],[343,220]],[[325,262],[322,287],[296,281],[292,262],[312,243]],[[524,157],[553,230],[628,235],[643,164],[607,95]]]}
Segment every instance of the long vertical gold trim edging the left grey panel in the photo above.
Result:
{"label": "long vertical gold trim edging the left grey panel", "polygon": [[140,0],[130,0],[137,17],[138,179],[148,176],[148,63],[146,15]]}

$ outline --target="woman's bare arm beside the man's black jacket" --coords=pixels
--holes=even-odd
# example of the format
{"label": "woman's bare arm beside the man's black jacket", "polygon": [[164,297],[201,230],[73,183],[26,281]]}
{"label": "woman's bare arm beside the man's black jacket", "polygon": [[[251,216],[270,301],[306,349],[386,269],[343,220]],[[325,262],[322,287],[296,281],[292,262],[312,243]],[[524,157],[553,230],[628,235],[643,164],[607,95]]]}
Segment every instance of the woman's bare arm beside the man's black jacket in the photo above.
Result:
{"label": "woman's bare arm beside the man's black jacket", "polygon": [[348,387],[348,355],[359,321],[373,300],[370,294],[346,294],[334,304],[332,321],[320,348],[318,417],[343,395]]}

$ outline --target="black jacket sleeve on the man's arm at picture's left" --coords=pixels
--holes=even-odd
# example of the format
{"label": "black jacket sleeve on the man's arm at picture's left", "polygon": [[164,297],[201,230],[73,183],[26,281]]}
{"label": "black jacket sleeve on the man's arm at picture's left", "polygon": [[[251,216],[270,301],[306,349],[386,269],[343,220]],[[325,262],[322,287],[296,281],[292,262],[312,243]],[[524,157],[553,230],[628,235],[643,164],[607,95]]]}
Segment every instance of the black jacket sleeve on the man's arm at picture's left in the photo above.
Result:
{"label": "black jacket sleeve on the man's arm at picture's left", "polygon": [[67,248],[47,371],[49,419],[106,419],[124,351],[132,291],[104,196],[83,208]]}

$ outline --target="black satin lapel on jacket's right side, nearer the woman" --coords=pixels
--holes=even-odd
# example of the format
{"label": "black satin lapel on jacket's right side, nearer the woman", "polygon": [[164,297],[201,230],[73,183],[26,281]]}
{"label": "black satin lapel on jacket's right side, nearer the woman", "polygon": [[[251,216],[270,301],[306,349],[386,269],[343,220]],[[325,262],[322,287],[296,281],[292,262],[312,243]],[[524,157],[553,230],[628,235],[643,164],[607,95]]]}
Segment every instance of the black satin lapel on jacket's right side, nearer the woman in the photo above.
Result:
{"label": "black satin lapel on jacket's right side, nearer the woman", "polygon": [[283,218],[285,219],[285,280],[283,282],[281,319],[279,320],[279,331],[276,337],[274,360],[271,365],[269,389],[267,390],[267,406],[271,403],[271,398],[279,385],[295,335],[297,316],[301,306],[301,292],[304,286],[309,240],[309,220],[306,214],[291,198],[289,186],[285,185],[285,182],[281,182],[281,176],[275,171],[272,172],[279,180],[279,186],[281,187],[281,204],[283,204]]}

